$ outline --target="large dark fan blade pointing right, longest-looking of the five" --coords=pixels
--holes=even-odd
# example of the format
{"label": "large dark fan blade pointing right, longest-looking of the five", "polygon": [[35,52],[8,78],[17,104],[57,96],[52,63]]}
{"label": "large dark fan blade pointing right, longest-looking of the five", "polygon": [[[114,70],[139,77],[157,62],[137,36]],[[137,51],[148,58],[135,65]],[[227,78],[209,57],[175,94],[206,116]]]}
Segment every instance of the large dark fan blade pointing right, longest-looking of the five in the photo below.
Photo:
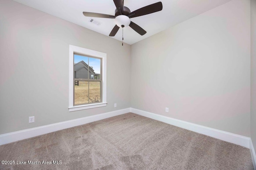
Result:
{"label": "large dark fan blade pointing right, longest-looking of the five", "polygon": [[143,8],[135,10],[134,12],[131,12],[128,15],[128,17],[134,18],[134,17],[138,17],[138,16],[144,16],[144,15],[147,15],[147,14],[151,14],[151,13],[154,13],[154,12],[161,11],[162,9],[163,9],[162,2],[156,2],[154,4],[144,6]]}

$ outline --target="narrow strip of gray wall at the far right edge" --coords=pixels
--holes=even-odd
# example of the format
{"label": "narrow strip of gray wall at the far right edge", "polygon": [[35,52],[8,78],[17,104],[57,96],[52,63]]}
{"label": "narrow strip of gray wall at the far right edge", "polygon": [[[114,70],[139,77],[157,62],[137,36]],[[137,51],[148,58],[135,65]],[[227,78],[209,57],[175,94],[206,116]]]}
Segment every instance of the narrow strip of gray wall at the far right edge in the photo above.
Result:
{"label": "narrow strip of gray wall at the far right edge", "polygon": [[256,152],[256,0],[251,0],[251,139]]}

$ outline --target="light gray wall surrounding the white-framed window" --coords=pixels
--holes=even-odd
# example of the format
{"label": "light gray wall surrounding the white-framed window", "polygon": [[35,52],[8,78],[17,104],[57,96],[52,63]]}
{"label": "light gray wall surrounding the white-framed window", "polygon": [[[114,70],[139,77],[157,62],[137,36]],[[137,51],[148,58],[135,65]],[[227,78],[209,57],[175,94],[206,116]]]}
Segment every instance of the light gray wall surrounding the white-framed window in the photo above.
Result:
{"label": "light gray wall surrounding the white-framed window", "polygon": [[[0,4],[0,134],[130,107],[130,45],[12,0]],[[107,53],[106,107],[68,111],[69,45]]]}

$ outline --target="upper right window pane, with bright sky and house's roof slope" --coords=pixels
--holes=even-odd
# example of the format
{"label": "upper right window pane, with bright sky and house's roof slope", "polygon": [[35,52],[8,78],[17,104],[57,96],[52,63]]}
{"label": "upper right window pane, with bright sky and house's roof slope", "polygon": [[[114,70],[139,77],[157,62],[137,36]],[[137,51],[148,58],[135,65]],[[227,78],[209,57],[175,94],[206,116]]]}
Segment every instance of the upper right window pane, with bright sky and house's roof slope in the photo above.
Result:
{"label": "upper right window pane, with bright sky and house's roof slope", "polygon": [[89,77],[90,79],[100,80],[101,59],[89,57]]}

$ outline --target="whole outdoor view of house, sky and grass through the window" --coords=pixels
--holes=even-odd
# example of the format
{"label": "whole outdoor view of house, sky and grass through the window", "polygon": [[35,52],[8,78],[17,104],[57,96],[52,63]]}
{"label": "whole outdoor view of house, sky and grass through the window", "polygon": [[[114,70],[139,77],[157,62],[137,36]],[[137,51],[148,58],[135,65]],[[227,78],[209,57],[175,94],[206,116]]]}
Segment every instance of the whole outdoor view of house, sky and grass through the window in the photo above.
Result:
{"label": "whole outdoor view of house, sky and grass through the window", "polygon": [[74,105],[102,101],[102,60],[74,54]]}

